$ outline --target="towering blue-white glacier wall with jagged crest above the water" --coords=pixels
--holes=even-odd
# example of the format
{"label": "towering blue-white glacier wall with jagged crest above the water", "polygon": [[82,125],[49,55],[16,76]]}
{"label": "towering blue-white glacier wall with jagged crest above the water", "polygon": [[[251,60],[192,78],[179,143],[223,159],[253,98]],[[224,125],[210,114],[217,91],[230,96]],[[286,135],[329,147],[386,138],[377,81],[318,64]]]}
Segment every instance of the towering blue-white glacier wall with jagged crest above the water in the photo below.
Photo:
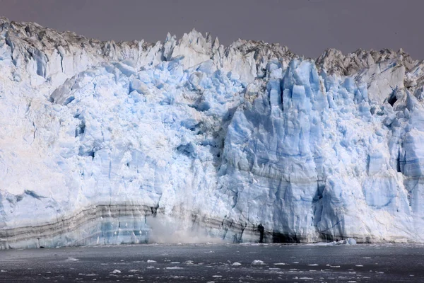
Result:
{"label": "towering blue-white glacier wall with jagged crest above the water", "polygon": [[[423,61],[0,20],[0,247],[424,242]],[[183,240],[181,240],[183,239]]]}

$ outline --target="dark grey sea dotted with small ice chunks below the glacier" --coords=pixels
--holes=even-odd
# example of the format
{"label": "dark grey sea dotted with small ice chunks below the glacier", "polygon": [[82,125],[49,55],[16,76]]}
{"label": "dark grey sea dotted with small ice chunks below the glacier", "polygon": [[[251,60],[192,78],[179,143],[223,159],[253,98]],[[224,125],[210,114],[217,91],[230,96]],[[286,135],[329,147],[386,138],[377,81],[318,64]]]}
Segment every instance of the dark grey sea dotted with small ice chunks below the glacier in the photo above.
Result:
{"label": "dark grey sea dotted with small ice chunks below the glacier", "polygon": [[0,282],[424,282],[424,245],[146,244],[0,250]]}

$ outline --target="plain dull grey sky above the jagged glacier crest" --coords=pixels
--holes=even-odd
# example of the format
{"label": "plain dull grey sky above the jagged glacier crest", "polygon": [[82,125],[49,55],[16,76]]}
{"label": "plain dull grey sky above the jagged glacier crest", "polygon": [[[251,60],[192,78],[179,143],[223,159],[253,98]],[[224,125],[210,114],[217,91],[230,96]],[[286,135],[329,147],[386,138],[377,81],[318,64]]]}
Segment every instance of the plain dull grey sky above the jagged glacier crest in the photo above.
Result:
{"label": "plain dull grey sky above the jagged glacier crest", "polygon": [[164,40],[196,28],[287,45],[307,57],[403,47],[424,59],[424,0],[0,0],[0,16],[100,40]]}

